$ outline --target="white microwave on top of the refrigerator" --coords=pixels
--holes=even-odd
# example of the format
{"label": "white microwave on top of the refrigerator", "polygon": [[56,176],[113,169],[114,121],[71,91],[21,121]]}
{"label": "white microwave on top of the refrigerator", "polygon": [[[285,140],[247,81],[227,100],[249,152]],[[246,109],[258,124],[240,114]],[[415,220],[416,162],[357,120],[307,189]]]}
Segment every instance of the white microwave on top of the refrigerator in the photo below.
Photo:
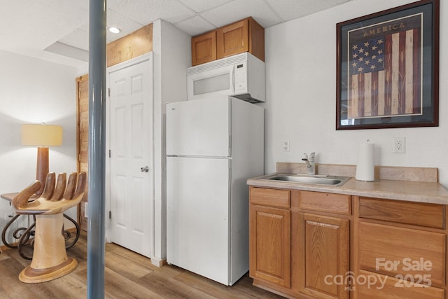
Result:
{"label": "white microwave on top of the refrigerator", "polygon": [[246,52],[189,67],[187,90],[189,100],[231,95],[265,102],[265,62]]}

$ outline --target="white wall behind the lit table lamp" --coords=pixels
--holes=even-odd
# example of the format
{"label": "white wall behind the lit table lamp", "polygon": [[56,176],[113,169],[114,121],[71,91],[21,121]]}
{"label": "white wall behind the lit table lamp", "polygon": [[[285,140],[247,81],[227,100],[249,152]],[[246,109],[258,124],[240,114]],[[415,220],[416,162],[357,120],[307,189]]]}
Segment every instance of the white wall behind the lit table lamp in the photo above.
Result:
{"label": "white wall behind the lit table lamp", "polygon": [[[0,50],[0,193],[36,179],[37,150],[21,145],[22,123],[62,125],[63,144],[50,148],[50,172],[76,171],[76,68]],[[0,230],[6,200],[0,200]],[[69,212],[76,219],[76,208]]]}

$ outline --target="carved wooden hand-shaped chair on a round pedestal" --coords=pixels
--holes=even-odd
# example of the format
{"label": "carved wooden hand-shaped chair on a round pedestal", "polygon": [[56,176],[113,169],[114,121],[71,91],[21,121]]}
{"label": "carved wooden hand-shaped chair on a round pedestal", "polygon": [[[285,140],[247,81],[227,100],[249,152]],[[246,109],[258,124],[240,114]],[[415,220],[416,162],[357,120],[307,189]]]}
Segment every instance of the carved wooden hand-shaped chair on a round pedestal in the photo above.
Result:
{"label": "carved wooden hand-shaped chair on a round pedestal", "polygon": [[42,195],[36,200],[29,202],[29,197],[41,188],[40,181],[35,181],[14,197],[11,206],[17,214],[36,216],[33,258],[31,264],[20,272],[20,281],[33,284],[50,281],[76,269],[78,261],[66,255],[62,235],[63,213],[82,200],[86,183],[85,172],[79,175],[71,173],[68,183],[65,173],[57,176],[56,183],[55,173],[51,172]]}

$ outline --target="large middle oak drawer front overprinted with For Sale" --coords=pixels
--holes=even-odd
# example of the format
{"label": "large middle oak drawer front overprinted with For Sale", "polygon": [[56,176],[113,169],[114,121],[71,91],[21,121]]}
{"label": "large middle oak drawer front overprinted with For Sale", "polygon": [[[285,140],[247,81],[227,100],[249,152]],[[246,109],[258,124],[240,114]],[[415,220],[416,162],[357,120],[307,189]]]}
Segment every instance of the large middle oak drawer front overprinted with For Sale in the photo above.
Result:
{"label": "large middle oak drawer front overprinted with For Sale", "polygon": [[359,221],[358,236],[360,269],[391,277],[430,275],[431,286],[444,286],[444,234]]}

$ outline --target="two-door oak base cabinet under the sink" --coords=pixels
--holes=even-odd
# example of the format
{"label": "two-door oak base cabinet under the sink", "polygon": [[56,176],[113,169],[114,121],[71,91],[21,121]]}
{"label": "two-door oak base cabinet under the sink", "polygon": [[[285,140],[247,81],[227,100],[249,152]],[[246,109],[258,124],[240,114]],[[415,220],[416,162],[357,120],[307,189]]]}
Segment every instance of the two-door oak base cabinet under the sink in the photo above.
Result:
{"label": "two-door oak base cabinet under the sink", "polygon": [[288,298],[349,298],[334,281],[349,271],[350,220],[323,215],[350,214],[348,195],[251,187],[250,203],[255,286]]}

